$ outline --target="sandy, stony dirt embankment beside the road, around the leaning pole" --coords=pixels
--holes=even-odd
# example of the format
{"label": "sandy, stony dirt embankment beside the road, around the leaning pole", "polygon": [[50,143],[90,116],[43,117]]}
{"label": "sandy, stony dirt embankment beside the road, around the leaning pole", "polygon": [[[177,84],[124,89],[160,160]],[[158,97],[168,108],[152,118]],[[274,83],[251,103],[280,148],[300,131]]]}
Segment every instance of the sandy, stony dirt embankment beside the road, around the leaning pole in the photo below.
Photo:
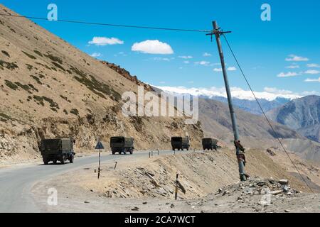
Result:
{"label": "sandy, stony dirt embankment beside the road, around the leaning pole", "polygon": [[[244,184],[238,182],[233,156],[229,150],[155,154],[120,161],[116,170],[113,161],[105,162],[99,180],[92,166],[39,182],[32,192],[36,204],[48,212],[319,212],[319,196],[301,193],[307,192],[305,185],[265,153],[247,153],[247,172],[259,177]],[[179,190],[177,201],[176,172],[186,189],[186,194]],[[289,180],[289,191],[270,194],[269,204],[263,204],[267,187],[270,192],[282,190],[279,179]],[[47,204],[50,188],[57,189],[57,206]]]}

